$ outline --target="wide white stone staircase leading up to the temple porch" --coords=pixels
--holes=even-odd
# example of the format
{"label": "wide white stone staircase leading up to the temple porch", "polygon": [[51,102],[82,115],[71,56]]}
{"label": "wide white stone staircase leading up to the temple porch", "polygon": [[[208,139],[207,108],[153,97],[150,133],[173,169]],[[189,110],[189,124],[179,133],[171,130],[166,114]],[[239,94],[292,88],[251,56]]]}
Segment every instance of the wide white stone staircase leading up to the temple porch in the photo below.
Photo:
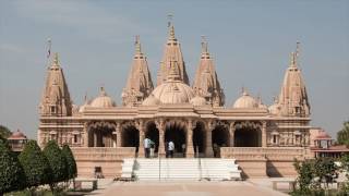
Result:
{"label": "wide white stone staircase leading up to the temple porch", "polygon": [[[131,169],[132,168],[132,172]],[[173,159],[124,159],[122,176],[136,180],[240,180],[241,171],[234,159],[173,158]]]}

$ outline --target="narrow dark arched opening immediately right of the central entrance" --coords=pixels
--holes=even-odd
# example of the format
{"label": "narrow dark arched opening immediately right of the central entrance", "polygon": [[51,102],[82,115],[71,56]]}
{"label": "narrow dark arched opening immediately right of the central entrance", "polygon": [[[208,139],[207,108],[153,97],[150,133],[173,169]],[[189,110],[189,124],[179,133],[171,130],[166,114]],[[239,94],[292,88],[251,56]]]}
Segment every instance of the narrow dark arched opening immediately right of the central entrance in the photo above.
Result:
{"label": "narrow dark arched opening immediately right of the central entrance", "polygon": [[202,122],[197,122],[196,127],[193,130],[193,147],[195,156],[204,157],[205,125]]}

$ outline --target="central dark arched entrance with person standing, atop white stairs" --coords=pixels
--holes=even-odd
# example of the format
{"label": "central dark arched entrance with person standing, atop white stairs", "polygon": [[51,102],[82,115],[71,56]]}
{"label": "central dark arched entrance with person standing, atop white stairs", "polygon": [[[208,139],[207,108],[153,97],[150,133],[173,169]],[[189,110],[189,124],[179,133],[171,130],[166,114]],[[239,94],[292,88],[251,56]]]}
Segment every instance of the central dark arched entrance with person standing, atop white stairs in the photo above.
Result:
{"label": "central dark arched entrance with person standing, atop white stairs", "polygon": [[167,150],[167,144],[169,142],[174,143],[174,156],[185,157],[185,126],[177,122],[166,123],[165,131],[165,149]]}

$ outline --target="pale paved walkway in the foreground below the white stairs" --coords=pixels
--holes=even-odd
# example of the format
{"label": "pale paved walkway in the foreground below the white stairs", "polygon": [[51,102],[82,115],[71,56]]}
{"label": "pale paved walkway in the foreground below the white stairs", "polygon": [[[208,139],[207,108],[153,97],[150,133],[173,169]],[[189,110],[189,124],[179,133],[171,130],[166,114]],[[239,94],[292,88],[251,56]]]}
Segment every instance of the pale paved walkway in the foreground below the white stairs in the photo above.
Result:
{"label": "pale paved walkway in the foreground below the white stairs", "polygon": [[263,184],[232,182],[113,182],[91,195],[106,196],[285,196]]}

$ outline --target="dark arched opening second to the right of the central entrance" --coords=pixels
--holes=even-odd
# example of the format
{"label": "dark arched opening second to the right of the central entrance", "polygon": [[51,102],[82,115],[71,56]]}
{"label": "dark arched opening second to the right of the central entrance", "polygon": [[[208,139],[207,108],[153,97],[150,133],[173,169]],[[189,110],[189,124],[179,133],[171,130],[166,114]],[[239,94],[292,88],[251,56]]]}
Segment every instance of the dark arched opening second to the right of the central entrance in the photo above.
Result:
{"label": "dark arched opening second to the right of the central entrance", "polygon": [[229,146],[229,130],[224,125],[218,125],[212,131],[212,147],[214,157],[220,157],[220,147]]}

